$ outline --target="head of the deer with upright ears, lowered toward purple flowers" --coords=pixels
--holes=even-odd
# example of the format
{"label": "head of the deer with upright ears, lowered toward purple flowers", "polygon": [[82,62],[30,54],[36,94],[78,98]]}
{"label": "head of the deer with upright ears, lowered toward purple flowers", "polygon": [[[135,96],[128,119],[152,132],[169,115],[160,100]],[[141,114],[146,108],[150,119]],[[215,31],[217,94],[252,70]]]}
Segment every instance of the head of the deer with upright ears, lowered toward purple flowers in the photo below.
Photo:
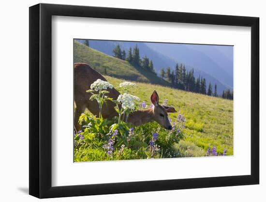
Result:
{"label": "head of the deer with upright ears, lowered toward purple flowers", "polygon": [[171,130],[172,125],[170,124],[167,113],[177,112],[175,108],[165,105],[160,105],[159,95],[157,94],[156,91],[153,91],[153,93],[151,94],[150,101],[153,104],[153,120],[156,121],[161,126],[163,126],[164,128]]}

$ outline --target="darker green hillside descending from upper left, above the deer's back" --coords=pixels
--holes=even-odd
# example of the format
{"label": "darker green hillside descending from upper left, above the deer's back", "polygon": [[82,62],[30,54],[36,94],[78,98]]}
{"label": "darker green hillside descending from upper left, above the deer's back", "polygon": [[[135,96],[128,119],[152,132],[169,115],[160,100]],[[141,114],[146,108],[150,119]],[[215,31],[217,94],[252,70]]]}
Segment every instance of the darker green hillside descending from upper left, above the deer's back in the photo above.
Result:
{"label": "darker green hillside descending from upper left, above the deer's back", "polygon": [[77,41],[74,41],[74,62],[85,62],[103,75],[171,86],[169,82],[142,67],[134,67],[127,61],[111,57]]}

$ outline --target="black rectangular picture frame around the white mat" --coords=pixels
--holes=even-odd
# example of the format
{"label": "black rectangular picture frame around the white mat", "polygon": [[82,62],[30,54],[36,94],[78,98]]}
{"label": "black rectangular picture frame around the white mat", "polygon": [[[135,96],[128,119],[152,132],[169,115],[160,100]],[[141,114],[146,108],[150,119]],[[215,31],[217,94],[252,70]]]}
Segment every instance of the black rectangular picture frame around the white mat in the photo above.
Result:
{"label": "black rectangular picture frame around the white mat", "polygon": [[[251,27],[251,175],[51,186],[52,16]],[[58,4],[30,7],[30,195],[38,198],[259,184],[259,18]]]}

